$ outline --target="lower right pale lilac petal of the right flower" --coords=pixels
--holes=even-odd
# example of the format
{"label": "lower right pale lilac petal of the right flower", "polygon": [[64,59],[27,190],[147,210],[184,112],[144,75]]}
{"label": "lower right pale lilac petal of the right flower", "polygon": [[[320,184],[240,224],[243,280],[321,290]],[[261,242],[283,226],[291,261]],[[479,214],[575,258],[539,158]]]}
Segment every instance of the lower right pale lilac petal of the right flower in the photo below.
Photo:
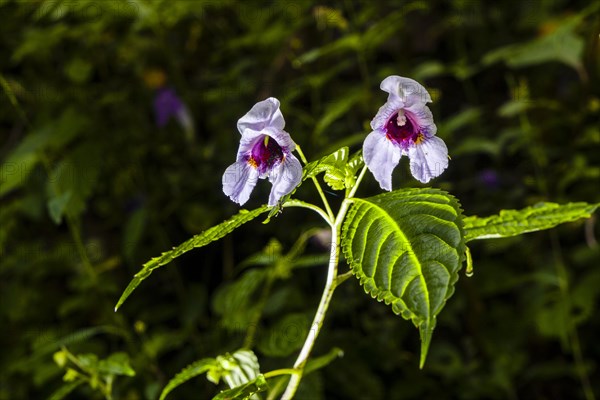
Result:
{"label": "lower right pale lilac petal of the right flower", "polygon": [[432,136],[408,149],[410,172],[415,179],[427,183],[448,167],[448,148],[442,139]]}

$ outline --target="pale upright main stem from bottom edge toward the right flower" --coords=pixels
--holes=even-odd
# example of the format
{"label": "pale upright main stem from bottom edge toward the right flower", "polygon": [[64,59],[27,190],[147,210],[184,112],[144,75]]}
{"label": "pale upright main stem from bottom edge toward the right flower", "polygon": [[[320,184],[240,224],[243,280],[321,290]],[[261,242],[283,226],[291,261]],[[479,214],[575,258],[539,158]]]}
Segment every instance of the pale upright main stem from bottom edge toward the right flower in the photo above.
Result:
{"label": "pale upright main stem from bottom edge toward the right flower", "polygon": [[302,350],[300,350],[300,354],[298,355],[298,358],[294,363],[294,370],[298,372],[290,377],[290,382],[288,383],[288,386],[285,389],[281,400],[291,400],[296,394],[298,386],[300,385],[300,381],[302,380],[304,367],[306,365],[306,362],[308,361],[308,357],[310,356],[310,353],[315,345],[315,341],[317,340],[317,336],[319,336],[319,332],[321,332],[321,328],[323,327],[325,314],[327,313],[327,309],[329,308],[329,303],[331,302],[333,292],[335,291],[335,288],[338,283],[337,273],[338,263],[340,261],[340,233],[342,230],[342,223],[344,222],[344,218],[346,217],[346,213],[348,212],[350,204],[352,204],[351,198],[356,193],[358,185],[360,184],[360,181],[365,175],[366,170],[367,168],[365,166],[360,172],[360,175],[356,180],[356,184],[350,190],[348,197],[342,202],[338,215],[335,218],[334,223],[331,225],[331,250],[329,257],[329,266],[327,269],[327,281],[325,282],[325,289],[323,290],[323,295],[321,296],[321,301],[313,319],[311,329],[308,333],[308,336],[306,337],[306,341],[304,342]]}

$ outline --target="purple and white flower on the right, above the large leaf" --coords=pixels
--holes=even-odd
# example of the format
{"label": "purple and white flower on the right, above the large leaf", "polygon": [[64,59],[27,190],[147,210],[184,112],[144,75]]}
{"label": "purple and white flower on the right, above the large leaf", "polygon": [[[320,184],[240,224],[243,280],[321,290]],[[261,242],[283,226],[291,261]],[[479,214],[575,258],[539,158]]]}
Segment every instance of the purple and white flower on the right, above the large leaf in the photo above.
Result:
{"label": "purple and white flower on the right, above the large leaf", "polygon": [[371,121],[371,132],[363,144],[363,158],[382,189],[392,190],[392,171],[403,155],[410,159],[412,175],[422,183],[448,167],[448,148],[437,136],[433,115],[426,103],[427,90],[417,81],[397,75],[381,82],[388,93]]}

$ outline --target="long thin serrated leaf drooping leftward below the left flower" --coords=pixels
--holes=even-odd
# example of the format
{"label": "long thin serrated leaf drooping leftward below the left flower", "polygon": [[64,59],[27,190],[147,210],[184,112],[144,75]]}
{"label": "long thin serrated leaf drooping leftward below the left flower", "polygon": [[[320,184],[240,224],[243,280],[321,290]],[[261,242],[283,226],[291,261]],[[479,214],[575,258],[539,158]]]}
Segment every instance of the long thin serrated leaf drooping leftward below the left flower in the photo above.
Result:
{"label": "long thin serrated leaf drooping leftward below the left flower", "polygon": [[144,264],[144,267],[134,275],[134,278],[129,282],[129,285],[121,295],[121,298],[117,302],[115,306],[115,311],[121,307],[121,305],[127,300],[129,295],[138,287],[138,285],[146,278],[150,276],[152,271],[156,268],[162,267],[173,261],[175,258],[181,256],[182,254],[187,253],[188,251],[196,248],[205,246],[215,240],[221,239],[223,236],[231,233],[233,230],[237,229],[241,225],[246,222],[252,221],[254,218],[263,214],[267,210],[269,210],[269,206],[262,206],[252,211],[241,210],[235,216],[229,218],[227,221],[220,223],[217,226],[213,226],[206,231],[195,235],[191,239],[183,242],[179,246],[173,248],[173,250],[162,253],[159,257],[155,257]]}

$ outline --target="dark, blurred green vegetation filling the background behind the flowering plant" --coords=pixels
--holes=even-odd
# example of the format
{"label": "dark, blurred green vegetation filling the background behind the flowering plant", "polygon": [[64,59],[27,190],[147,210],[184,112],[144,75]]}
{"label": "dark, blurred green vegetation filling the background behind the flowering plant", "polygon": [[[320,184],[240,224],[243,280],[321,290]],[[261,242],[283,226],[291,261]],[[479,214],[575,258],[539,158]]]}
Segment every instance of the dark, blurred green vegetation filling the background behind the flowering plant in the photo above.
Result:
{"label": "dark, blurred green vegetation filling the background behind the flowering plant", "polygon": [[[466,214],[600,202],[599,11],[597,0],[0,0],[0,399],[58,390],[61,347],[128,358],[136,374],[115,379],[115,399],[156,399],[192,361],[244,343],[263,371],[293,364],[327,242],[320,231],[296,242],[323,225],[301,210],[187,254],[113,312],[143,262],[237,212],[221,175],[237,119],[268,96],[314,159],[359,149],[380,81],[412,77],[452,156],[433,185]],[[157,125],[161,88],[186,104],[192,137],[176,119]],[[416,183],[402,163],[395,187]],[[367,174],[358,195],[378,190]],[[296,195],[318,201],[308,185]],[[474,244],[475,275],[441,313],[423,371],[417,330],[349,280],[315,349],[344,356],[298,398],[600,396],[599,233],[590,220]],[[172,396],[222,388],[199,377]],[[81,386],[69,398],[102,397]]]}

